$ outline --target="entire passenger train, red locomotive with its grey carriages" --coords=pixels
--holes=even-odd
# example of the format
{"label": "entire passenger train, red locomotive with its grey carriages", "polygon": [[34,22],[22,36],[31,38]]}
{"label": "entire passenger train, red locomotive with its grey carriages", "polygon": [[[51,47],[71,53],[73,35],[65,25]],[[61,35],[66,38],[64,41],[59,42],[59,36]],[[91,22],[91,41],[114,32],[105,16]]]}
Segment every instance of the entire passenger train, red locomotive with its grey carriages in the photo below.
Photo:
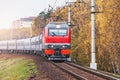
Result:
{"label": "entire passenger train, red locomotive with its grey carriages", "polygon": [[71,30],[65,22],[50,22],[38,36],[0,41],[0,51],[43,54],[48,60],[70,61]]}

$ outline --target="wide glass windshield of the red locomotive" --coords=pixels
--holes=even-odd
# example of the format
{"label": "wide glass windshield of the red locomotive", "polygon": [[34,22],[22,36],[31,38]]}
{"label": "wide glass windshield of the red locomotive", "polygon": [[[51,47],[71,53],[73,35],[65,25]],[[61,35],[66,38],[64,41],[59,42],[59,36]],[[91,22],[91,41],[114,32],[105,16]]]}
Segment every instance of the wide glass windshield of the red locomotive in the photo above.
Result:
{"label": "wide glass windshield of the red locomotive", "polygon": [[49,36],[66,36],[67,29],[49,29]]}

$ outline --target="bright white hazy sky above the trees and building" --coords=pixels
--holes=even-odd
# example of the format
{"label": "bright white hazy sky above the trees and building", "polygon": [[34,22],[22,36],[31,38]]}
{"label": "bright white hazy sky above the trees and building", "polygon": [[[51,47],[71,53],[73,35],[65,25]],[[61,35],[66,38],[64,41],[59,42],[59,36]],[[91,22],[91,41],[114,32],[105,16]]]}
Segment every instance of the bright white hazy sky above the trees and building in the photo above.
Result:
{"label": "bright white hazy sky above the trees and building", "polygon": [[0,0],[0,29],[10,28],[14,20],[38,16],[49,4],[55,8],[65,5],[66,1],[74,0]]}

